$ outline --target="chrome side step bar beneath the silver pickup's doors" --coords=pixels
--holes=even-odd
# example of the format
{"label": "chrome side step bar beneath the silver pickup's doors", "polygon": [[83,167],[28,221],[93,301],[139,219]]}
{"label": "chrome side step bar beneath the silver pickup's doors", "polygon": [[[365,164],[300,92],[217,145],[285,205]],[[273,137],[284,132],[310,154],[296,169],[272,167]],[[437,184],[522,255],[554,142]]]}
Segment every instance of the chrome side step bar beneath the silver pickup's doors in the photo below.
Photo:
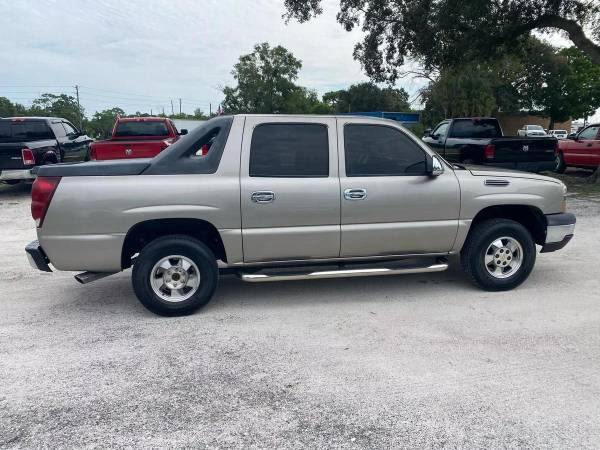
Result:
{"label": "chrome side step bar beneath the silver pickup's doors", "polygon": [[265,281],[291,281],[291,280],[316,280],[322,278],[345,278],[345,277],[372,277],[379,275],[404,275],[410,273],[442,272],[448,268],[448,263],[438,261],[427,266],[409,267],[364,267],[360,269],[339,268],[337,270],[316,270],[301,272],[270,272],[268,270],[254,273],[241,272],[239,274],[243,281],[261,283]]}

